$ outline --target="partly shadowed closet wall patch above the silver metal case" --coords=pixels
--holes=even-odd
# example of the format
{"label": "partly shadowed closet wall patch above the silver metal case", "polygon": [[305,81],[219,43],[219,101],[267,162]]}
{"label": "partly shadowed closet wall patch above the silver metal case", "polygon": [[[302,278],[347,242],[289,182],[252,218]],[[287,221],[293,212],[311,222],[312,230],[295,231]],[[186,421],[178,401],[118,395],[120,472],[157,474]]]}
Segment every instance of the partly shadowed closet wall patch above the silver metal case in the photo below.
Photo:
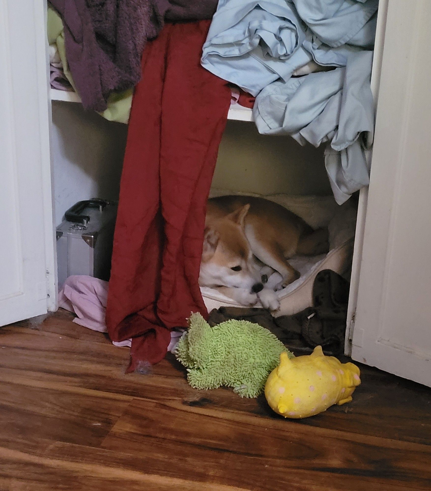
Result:
{"label": "partly shadowed closet wall patch above the silver metal case", "polygon": [[51,155],[56,226],[77,201],[118,199],[127,128],[81,104],[53,101]]}

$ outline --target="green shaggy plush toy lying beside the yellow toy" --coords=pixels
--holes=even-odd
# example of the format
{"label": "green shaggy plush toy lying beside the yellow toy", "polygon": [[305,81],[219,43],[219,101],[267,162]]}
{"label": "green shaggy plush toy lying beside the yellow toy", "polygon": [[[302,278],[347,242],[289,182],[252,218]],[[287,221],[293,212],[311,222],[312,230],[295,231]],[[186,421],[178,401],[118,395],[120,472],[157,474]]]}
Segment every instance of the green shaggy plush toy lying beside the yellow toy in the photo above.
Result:
{"label": "green shaggy plush toy lying beside the yellow toy", "polygon": [[187,380],[195,389],[227,385],[241,397],[257,397],[284,351],[293,357],[259,324],[230,320],[210,327],[201,314],[192,314],[175,355],[187,367]]}

